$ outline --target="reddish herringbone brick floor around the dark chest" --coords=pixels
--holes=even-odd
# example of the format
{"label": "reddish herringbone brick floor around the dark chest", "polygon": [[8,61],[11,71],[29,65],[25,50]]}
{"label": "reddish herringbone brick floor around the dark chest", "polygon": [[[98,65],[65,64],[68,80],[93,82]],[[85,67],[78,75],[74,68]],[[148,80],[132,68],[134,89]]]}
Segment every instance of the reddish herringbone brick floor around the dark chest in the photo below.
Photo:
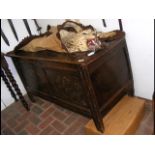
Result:
{"label": "reddish herringbone brick floor around the dark chest", "polygon": [[[28,98],[26,98],[28,100]],[[89,119],[46,100],[36,98],[27,112],[15,102],[1,112],[3,135],[84,135]],[[28,100],[29,101],[29,100]],[[136,135],[151,135],[153,131],[152,104],[145,101],[143,119]]]}

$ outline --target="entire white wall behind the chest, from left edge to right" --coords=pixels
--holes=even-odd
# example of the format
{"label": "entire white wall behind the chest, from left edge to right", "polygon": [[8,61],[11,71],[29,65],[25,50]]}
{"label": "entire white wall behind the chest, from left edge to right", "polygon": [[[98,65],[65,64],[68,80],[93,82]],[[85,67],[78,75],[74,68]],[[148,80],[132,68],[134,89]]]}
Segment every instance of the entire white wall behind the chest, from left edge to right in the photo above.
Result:
{"label": "entire white wall behind the chest, from left edge to right", "polygon": [[[61,24],[63,21],[63,19],[40,19],[38,20],[38,23],[43,28],[42,32],[44,32],[48,24],[57,25]],[[110,31],[119,28],[117,20],[112,19],[106,20],[108,28],[103,27],[103,23],[100,19],[81,19],[80,21],[86,25],[93,25],[99,31]],[[13,20],[13,22],[20,40],[28,36],[22,20]],[[34,22],[32,20],[28,20],[28,22],[32,33],[37,34]],[[135,95],[151,99],[154,91],[154,21],[146,19],[126,19],[123,20],[123,25],[126,32],[129,55],[133,69]],[[13,50],[18,42],[15,40],[6,20],[1,21],[1,27],[6,36],[9,38],[11,44],[11,46],[8,47],[1,38],[1,51],[6,53]],[[25,94],[26,91],[11,60],[8,58],[7,61],[15,79],[19,84],[19,87],[22,90],[22,93]],[[2,80],[1,90],[1,108],[4,109],[4,104],[6,106],[10,105],[13,102],[13,99]]]}

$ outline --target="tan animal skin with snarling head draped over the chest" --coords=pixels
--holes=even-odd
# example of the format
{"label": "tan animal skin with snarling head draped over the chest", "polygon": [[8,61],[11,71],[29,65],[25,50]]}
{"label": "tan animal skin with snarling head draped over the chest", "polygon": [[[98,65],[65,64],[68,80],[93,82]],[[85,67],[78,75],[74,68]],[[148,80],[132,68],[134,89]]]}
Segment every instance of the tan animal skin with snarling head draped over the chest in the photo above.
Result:
{"label": "tan animal skin with snarling head draped over the chest", "polygon": [[103,48],[103,42],[113,41],[118,31],[97,32],[91,26],[84,26],[78,20],[66,20],[58,26],[47,26],[47,32],[40,36],[25,38],[15,50],[26,52],[55,51],[75,53],[96,51]]}

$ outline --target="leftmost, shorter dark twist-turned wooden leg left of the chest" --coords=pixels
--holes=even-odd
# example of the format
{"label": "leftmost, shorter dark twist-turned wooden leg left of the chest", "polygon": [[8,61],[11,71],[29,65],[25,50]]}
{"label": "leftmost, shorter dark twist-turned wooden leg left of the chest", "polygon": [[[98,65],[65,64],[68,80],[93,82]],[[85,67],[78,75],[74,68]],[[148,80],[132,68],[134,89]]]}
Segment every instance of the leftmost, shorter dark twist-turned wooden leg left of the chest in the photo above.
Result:
{"label": "leftmost, shorter dark twist-turned wooden leg left of the chest", "polygon": [[2,68],[1,68],[1,77],[2,77],[2,79],[4,81],[4,83],[6,84],[11,96],[14,98],[15,101],[18,101],[18,99],[16,97],[16,94],[14,93],[14,91],[13,91],[13,89],[12,89],[12,87],[11,87],[11,85],[10,85],[10,83],[9,83],[9,81],[8,81],[8,79],[7,79],[7,77],[6,77],[6,75],[5,75]]}

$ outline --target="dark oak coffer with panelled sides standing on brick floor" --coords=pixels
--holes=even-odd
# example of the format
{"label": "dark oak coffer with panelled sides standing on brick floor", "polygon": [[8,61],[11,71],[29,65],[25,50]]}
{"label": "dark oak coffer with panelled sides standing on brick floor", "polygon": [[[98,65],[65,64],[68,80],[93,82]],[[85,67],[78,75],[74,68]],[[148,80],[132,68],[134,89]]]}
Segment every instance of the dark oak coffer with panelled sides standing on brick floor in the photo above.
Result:
{"label": "dark oak coffer with panelled sides standing on brick floor", "polygon": [[39,96],[91,117],[102,132],[102,117],[125,94],[134,93],[124,36],[94,55],[12,51],[7,56],[32,100]]}

